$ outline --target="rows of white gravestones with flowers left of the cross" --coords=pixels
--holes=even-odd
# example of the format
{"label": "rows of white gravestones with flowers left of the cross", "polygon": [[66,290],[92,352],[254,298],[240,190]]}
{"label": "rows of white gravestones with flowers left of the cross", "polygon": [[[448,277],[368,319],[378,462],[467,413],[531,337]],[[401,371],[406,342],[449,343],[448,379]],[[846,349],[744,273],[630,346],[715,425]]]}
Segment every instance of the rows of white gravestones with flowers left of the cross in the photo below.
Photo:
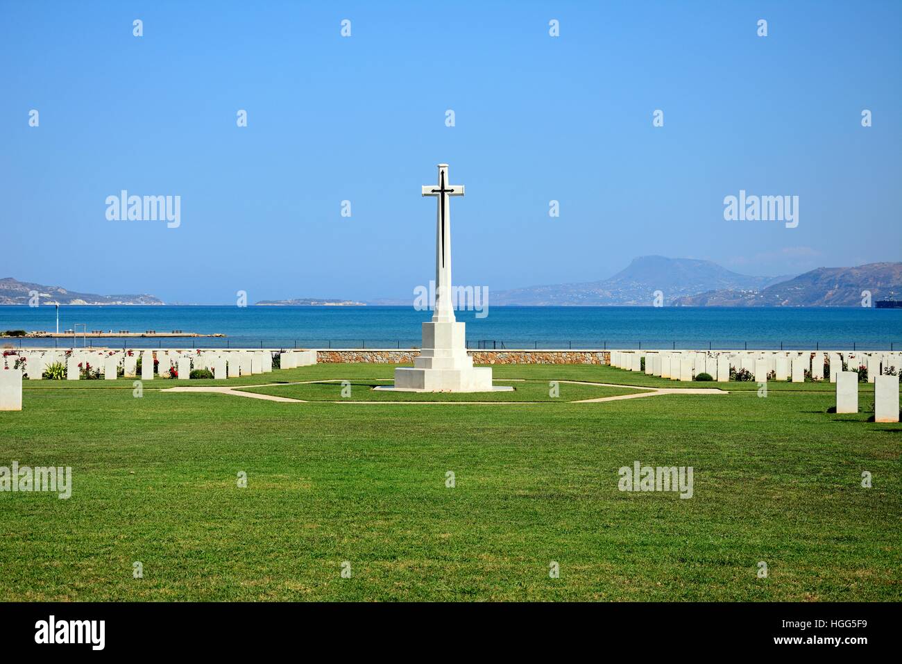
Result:
{"label": "rows of white gravestones with flowers left of the cross", "polygon": [[[280,354],[281,367],[294,369],[317,363],[317,351],[285,351]],[[154,356],[156,370],[154,370]],[[209,369],[215,379],[234,378],[272,371],[272,351],[19,351],[4,357],[0,369],[18,369],[30,380],[41,380],[44,371],[55,363],[65,367],[65,378],[81,379],[90,371],[99,377],[115,380],[120,369],[125,378],[138,375],[137,362],[142,359],[141,378],[158,377],[188,379],[192,369]]]}

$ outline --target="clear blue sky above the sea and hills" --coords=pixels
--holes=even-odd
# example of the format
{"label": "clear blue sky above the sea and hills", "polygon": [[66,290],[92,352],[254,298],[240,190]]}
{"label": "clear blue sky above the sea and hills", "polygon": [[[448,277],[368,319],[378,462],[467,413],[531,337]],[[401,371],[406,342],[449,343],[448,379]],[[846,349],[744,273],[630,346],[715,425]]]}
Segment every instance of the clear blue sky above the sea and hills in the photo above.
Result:
{"label": "clear blue sky above the sea and hills", "polygon": [[[409,296],[434,274],[419,187],[439,162],[467,188],[460,284],[648,254],[765,275],[899,260],[900,34],[895,1],[5,0],[0,276],[202,304]],[[181,226],[106,220],[122,189],[180,195]],[[798,228],[723,220],[741,189],[798,195]]]}

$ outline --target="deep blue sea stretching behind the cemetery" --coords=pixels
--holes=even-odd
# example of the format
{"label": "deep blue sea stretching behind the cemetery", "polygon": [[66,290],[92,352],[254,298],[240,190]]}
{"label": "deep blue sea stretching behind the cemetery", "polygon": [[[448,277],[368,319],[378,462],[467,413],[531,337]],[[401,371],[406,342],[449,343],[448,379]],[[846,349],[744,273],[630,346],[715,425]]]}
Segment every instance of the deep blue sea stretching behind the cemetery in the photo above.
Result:
{"label": "deep blue sea stretching behind the cemetery", "polygon": [[[902,309],[490,307],[484,318],[456,315],[466,323],[470,348],[902,349]],[[410,348],[419,346],[420,323],[430,316],[403,306],[61,306],[60,332],[84,326],[88,332],[226,334],[87,339],[87,345],[131,348]],[[15,329],[54,331],[56,308],[0,306],[0,330]],[[72,345],[69,339],[22,343]]]}

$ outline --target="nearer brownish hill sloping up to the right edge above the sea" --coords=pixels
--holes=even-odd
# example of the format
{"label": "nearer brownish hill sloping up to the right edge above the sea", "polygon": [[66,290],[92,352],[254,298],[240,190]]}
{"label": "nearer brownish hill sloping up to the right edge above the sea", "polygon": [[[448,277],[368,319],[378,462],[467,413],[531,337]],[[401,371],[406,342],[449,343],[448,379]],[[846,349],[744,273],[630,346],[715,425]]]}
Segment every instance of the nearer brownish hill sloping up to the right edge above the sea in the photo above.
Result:
{"label": "nearer brownish hill sloping up to the right edge above the sea", "polygon": [[804,275],[759,291],[723,289],[679,298],[684,306],[861,306],[861,292],[871,301],[902,299],[902,263],[859,267],[818,267]]}

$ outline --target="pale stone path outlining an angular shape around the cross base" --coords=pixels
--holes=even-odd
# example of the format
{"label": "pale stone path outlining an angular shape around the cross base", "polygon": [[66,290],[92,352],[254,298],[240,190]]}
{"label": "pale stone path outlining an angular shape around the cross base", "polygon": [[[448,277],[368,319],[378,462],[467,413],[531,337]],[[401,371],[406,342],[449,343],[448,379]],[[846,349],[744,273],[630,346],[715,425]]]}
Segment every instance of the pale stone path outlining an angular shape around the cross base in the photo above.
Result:
{"label": "pale stone path outlining an angular shape around the cross base", "polygon": [[[355,379],[355,380],[381,380],[381,379]],[[233,397],[249,397],[263,399],[264,401],[281,401],[282,403],[293,404],[442,404],[442,405],[461,405],[461,406],[510,406],[510,405],[535,405],[535,404],[553,404],[554,401],[351,401],[342,399],[340,401],[308,401],[306,399],[295,399],[289,397],[274,397],[270,394],[257,394],[256,392],[244,392],[239,388],[270,388],[281,385],[310,385],[312,383],[337,383],[339,379],[327,380],[299,380],[292,383],[264,383],[262,385],[236,385],[233,388],[220,387],[218,385],[208,385],[204,387],[179,387],[161,389],[161,392],[208,392],[212,394],[229,394]],[[525,379],[501,380],[501,382],[525,382]],[[544,382],[544,381],[540,381]],[[714,388],[643,388],[638,385],[617,385],[615,383],[593,383],[585,380],[558,380],[558,383],[569,383],[571,385],[594,385],[602,388],[627,388],[643,390],[636,394],[621,394],[616,397],[597,397],[591,399],[579,399],[576,401],[563,401],[557,403],[565,404],[598,404],[603,401],[617,401],[620,399],[633,399],[640,397],[658,397],[662,394],[730,394],[724,389]]]}

